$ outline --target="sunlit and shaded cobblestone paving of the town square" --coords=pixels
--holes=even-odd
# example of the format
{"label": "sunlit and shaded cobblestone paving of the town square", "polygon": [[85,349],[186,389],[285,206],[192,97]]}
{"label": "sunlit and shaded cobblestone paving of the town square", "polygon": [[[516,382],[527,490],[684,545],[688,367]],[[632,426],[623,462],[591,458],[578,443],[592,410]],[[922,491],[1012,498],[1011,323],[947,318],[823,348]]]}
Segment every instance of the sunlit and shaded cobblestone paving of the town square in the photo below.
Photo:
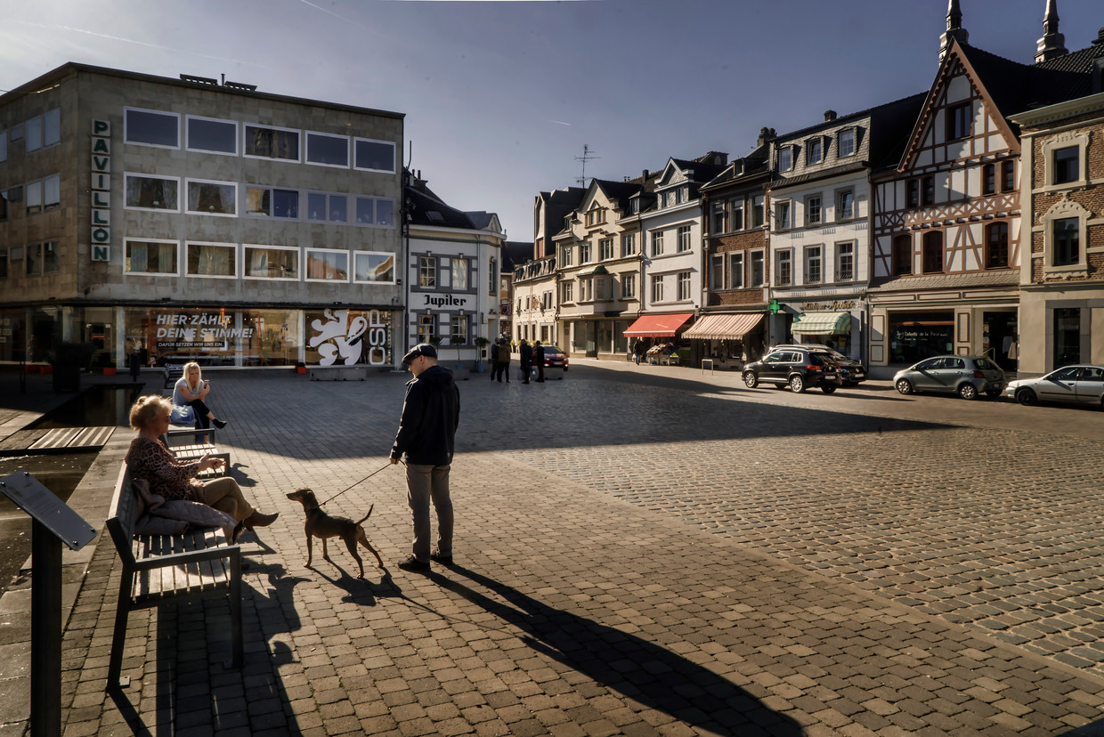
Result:
{"label": "sunlit and shaded cobblestone paving of the town square", "polygon": [[[361,581],[338,546],[302,567],[301,511],[284,494],[326,499],[381,468],[401,377],[211,378],[235,477],[282,512],[247,538],[245,667],[221,665],[224,605],[136,612],[134,686],[105,698],[118,572],[100,545],[66,630],[66,735],[1072,736],[1104,724],[1095,660],[1047,651],[1055,633],[1000,642],[990,635],[1022,624],[985,627],[1002,615],[980,611],[1042,595],[1098,606],[1086,541],[1101,484],[1090,474],[1071,490],[1062,470],[1062,453],[1091,442],[596,368],[530,386],[474,378],[453,473],[459,565],[392,565],[410,522],[390,469],[326,505],[359,517],[375,504],[369,536],[391,570],[367,563]],[[1036,609],[1049,611],[1011,611]]]}

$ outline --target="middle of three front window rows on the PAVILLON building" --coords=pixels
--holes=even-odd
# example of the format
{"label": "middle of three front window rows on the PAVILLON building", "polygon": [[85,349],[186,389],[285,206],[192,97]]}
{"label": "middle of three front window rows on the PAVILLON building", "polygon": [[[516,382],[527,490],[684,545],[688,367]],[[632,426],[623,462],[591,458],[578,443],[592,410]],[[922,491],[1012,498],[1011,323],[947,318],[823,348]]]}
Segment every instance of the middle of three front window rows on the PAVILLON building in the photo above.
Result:
{"label": "middle of three front window rows on the PAVILLON building", "polygon": [[391,197],[185,179],[181,202],[179,177],[132,173],[124,174],[124,190],[125,205],[131,210],[180,212],[183,204],[191,215],[395,226]]}

